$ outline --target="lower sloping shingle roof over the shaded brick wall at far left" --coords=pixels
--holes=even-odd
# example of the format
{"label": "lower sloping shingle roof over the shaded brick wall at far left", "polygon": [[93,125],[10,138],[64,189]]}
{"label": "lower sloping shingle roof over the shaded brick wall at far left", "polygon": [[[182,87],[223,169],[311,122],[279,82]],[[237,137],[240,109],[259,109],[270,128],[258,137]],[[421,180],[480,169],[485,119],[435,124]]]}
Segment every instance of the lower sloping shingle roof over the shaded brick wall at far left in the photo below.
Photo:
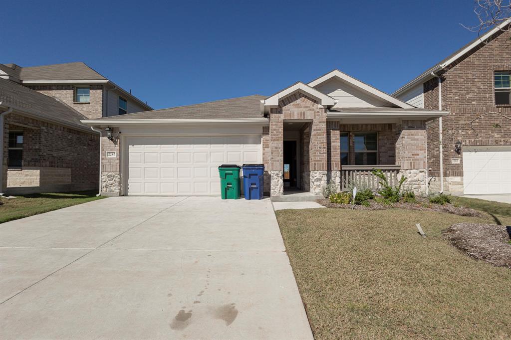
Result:
{"label": "lower sloping shingle roof over the shaded brick wall at far left", "polygon": [[3,107],[12,107],[13,110],[29,113],[53,122],[87,129],[80,122],[81,119],[87,119],[87,117],[80,112],[50,96],[10,80],[0,79],[0,102],[2,102]]}

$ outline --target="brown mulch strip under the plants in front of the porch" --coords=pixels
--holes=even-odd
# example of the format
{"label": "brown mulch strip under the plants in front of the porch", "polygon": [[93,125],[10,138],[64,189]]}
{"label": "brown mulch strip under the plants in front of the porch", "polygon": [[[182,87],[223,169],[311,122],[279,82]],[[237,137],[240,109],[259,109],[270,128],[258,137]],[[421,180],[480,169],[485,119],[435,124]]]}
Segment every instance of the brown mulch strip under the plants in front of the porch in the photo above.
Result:
{"label": "brown mulch strip under the plants in front of the porch", "polygon": [[[426,199],[417,199],[418,203],[405,203],[398,202],[392,203],[392,206],[382,205],[377,203],[374,200],[369,200],[369,206],[356,205],[355,210],[385,210],[392,208],[401,208],[401,209],[411,209],[411,210],[421,210],[421,211],[437,211],[437,212],[447,212],[450,214],[455,214],[459,216],[470,216],[470,217],[482,217],[484,216],[481,212],[474,210],[472,208],[465,207],[455,207],[452,204],[439,205],[430,203]],[[317,200],[317,203],[325,206],[327,208],[341,208],[341,209],[352,209],[351,204],[337,204],[332,203],[328,199]]]}

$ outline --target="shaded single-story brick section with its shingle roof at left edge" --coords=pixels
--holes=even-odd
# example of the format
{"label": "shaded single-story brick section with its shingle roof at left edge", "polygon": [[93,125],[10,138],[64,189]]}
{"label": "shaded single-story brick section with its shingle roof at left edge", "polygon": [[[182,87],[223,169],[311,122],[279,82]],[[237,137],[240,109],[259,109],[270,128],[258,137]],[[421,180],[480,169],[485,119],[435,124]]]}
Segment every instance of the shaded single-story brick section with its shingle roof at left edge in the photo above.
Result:
{"label": "shaded single-story brick section with its shingle roof at left edge", "polygon": [[0,192],[80,191],[99,186],[99,133],[86,116],[30,88],[0,79]]}

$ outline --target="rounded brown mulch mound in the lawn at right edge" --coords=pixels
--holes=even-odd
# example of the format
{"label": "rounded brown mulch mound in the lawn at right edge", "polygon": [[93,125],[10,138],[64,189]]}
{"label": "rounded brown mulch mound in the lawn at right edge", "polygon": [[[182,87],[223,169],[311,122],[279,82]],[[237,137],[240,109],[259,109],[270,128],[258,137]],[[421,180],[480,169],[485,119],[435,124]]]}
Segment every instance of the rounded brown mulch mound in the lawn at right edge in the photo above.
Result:
{"label": "rounded brown mulch mound in the lawn at right edge", "polygon": [[458,223],[444,230],[451,244],[467,255],[511,269],[511,245],[506,226]]}

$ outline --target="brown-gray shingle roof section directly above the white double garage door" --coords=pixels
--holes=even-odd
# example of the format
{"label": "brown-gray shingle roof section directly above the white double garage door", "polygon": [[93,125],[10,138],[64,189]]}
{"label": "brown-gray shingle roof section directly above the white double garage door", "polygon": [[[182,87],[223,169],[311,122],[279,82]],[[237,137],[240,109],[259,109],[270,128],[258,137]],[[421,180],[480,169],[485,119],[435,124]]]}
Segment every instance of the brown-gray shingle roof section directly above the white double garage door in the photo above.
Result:
{"label": "brown-gray shingle roof section directly above the white double garage door", "polygon": [[100,119],[226,119],[261,118],[264,95],[224,99],[215,102],[178,106],[168,109],[128,113]]}

